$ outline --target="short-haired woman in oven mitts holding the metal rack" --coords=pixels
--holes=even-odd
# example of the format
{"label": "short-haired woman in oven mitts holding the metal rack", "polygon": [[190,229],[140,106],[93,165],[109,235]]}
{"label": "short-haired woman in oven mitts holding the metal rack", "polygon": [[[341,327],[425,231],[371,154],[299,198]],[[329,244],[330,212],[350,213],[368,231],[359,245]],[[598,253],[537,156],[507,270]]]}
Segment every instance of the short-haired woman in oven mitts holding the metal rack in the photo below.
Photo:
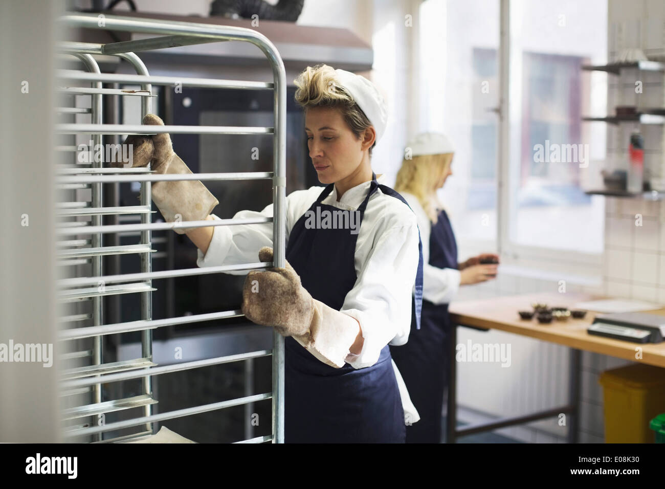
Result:
{"label": "short-haired woman in oven mitts holding the metal rack", "polygon": [[[386,105],[372,82],[327,65],[307,67],[295,84],[326,186],[287,196],[287,265],[247,275],[243,313],[286,337],[286,442],[404,442],[405,418],[418,413],[388,343],[407,341],[412,311],[420,321],[422,253],[414,212],[370,165]],[[144,124],[162,121],[150,114]],[[188,172],[168,134],[151,141],[153,169]],[[219,219],[201,182],[163,183],[152,195],[167,222]],[[273,216],[272,204],[234,218],[256,216]],[[272,223],[174,230],[198,246],[200,267],[272,261]]]}

